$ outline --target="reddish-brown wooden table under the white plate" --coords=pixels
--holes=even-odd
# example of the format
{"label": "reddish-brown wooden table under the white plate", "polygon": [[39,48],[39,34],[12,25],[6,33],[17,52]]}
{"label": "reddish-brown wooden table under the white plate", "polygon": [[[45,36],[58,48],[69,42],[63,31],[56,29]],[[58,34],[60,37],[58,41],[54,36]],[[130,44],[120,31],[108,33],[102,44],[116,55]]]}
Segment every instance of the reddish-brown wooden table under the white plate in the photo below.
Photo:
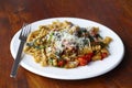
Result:
{"label": "reddish-brown wooden table under the white plate", "polygon": [[[10,42],[15,32],[23,22],[56,16],[82,18],[111,28],[125,45],[122,63],[84,80],[51,79],[22,67],[15,79],[10,78]],[[0,88],[132,88],[132,0],[0,0]]]}

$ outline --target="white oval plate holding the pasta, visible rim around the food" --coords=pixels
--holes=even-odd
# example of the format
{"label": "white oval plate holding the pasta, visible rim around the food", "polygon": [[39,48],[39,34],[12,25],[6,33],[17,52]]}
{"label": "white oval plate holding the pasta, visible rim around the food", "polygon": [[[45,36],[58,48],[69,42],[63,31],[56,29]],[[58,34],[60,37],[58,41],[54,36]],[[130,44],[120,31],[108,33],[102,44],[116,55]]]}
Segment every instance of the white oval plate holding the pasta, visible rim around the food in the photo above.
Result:
{"label": "white oval plate holding the pasta, visible rim around the food", "polygon": [[[38,25],[48,24],[56,20],[59,21],[67,20],[82,28],[98,26],[100,29],[100,34],[102,36],[110,36],[113,38],[113,41],[109,45],[110,56],[105,58],[103,61],[92,62],[86,66],[81,66],[73,69],[65,69],[57,67],[41,67],[40,64],[36,64],[33,61],[32,56],[23,54],[23,58],[20,63],[22,67],[34,74],[50,78],[85,79],[85,78],[91,78],[106,74],[111,69],[113,69],[114,67],[117,67],[122,61],[124,54],[124,46],[121,38],[112,30],[97,22],[84,20],[84,19],[77,19],[77,18],[53,18],[53,19],[36,21],[34,23],[31,23],[30,25],[32,25],[33,30],[34,29],[36,30]],[[13,58],[16,55],[18,47],[20,44],[19,35],[20,35],[20,31],[15,33],[10,45],[10,50]]]}

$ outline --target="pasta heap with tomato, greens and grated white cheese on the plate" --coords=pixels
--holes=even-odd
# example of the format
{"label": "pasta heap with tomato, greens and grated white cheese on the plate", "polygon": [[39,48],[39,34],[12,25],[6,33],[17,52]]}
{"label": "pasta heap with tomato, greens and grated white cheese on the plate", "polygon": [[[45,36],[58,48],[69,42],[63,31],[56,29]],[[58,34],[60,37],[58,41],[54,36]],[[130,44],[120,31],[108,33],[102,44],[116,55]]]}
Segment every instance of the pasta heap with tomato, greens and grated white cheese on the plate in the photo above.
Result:
{"label": "pasta heap with tomato, greens and grated white cheese on the plate", "polygon": [[68,21],[40,25],[26,41],[24,53],[42,66],[75,68],[110,55],[110,36],[102,37],[97,26],[80,28]]}

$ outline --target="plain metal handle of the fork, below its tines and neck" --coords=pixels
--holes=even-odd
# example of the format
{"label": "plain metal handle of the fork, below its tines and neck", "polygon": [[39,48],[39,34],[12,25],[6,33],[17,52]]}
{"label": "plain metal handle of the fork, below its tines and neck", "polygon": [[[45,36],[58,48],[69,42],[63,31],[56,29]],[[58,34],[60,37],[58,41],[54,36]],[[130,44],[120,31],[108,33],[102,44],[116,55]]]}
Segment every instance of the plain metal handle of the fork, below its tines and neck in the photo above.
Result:
{"label": "plain metal handle of the fork, below its tines and neck", "polygon": [[23,42],[23,41],[21,41],[21,43],[20,43],[19,51],[18,51],[16,57],[14,59],[14,63],[13,63],[13,66],[12,66],[12,69],[11,69],[10,77],[15,78],[16,70],[18,70],[19,64],[21,62],[21,54],[22,54],[22,51],[23,51],[24,43],[25,42]]}

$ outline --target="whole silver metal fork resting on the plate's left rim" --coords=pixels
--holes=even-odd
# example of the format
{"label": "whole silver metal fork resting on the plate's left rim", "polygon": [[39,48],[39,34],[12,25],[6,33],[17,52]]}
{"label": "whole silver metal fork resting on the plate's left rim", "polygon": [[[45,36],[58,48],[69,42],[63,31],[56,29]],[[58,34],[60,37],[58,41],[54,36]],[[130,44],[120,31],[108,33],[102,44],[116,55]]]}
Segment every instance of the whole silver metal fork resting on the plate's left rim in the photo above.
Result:
{"label": "whole silver metal fork resting on the plate's left rim", "polygon": [[23,26],[22,26],[20,36],[19,36],[19,40],[21,42],[20,42],[20,46],[19,46],[19,50],[18,50],[15,61],[14,61],[12,69],[11,69],[10,77],[15,78],[15,76],[16,76],[16,70],[18,70],[19,64],[21,62],[21,54],[22,54],[22,51],[23,51],[23,46],[24,46],[24,43],[26,42],[26,38],[28,38],[28,35],[30,34],[30,32],[31,32],[31,26],[24,23]]}

